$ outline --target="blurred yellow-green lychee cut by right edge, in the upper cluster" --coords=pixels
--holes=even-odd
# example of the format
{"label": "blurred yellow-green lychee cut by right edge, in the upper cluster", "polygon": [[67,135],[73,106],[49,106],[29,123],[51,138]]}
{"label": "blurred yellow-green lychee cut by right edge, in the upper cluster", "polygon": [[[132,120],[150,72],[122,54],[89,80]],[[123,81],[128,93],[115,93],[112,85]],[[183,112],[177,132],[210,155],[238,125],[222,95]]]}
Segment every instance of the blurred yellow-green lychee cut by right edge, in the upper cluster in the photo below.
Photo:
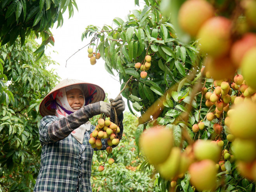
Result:
{"label": "blurred yellow-green lychee cut by right edge, in the upper cluster", "polygon": [[242,59],[241,70],[247,84],[253,89],[256,89],[256,47],[247,51]]}

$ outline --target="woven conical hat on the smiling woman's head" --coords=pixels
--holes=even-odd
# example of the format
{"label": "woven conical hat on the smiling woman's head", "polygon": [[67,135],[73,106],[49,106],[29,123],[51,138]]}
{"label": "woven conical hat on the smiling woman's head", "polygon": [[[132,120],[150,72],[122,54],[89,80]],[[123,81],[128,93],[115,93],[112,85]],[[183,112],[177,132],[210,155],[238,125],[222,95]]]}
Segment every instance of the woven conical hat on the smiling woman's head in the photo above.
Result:
{"label": "woven conical hat on the smiling woman's head", "polygon": [[48,109],[47,106],[45,105],[45,102],[47,101],[47,103],[48,103],[49,99],[52,100],[52,97],[50,97],[50,95],[52,93],[54,93],[55,91],[58,91],[59,89],[61,89],[63,87],[71,86],[71,85],[74,85],[74,84],[80,84],[81,85],[81,88],[83,89],[83,94],[84,94],[85,98],[89,96],[89,92],[91,92],[92,90],[94,90],[93,92],[96,92],[95,94],[93,94],[93,96],[90,99],[88,104],[96,103],[98,101],[104,101],[105,92],[100,86],[97,86],[97,85],[92,84],[92,83],[87,83],[87,82],[84,82],[84,81],[80,81],[80,80],[65,79],[65,80],[61,81],[59,84],[57,84],[50,91],[50,93],[48,93],[47,96],[45,96],[45,98],[43,98],[42,102],[40,103],[40,107],[39,107],[40,114],[43,117],[46,116],[46,115],[55,115],[55,109]]}

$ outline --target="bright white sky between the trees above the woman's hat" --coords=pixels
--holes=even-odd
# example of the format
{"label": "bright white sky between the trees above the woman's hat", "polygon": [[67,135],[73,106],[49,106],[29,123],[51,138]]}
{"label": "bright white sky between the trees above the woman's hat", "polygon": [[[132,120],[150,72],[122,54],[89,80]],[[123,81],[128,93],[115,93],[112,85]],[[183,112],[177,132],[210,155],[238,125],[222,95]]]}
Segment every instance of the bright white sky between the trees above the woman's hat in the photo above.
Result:
{"label": "bright white sky between the trees above the woman's hat", "polygon": [[[88,25],[99,26],[112,25],[112,20],[119,17],[125,21],[125,16],[130,10],[142,9],[135,7],[134,0],[76,0],[78,5],[74,11],[73,17],[68,19],[68,11],[64,14],[63,26],[56,29],[53,27],[55,45],[47,48],[46,53],[60,65],[53,66],[61,79],[78,79],[93,84],[97,84],[108,93],[109,98],[116,98],[120,92],[119,77],[109,74],[104,67],[104,60],[100,58],[95,65],[90,64],[87,47],[76,53],[67,61],[66,60],[83,46],[87,45],[90,39],[81,41],[81,34]],[[56,22],[57,23],[57,22]],[[55,25],[57,26],[57,25]],[[113,24],[113,27],[116,27]],[[58,53],[55,53],[57,51]],[[95,50],[94,50],[95,51]],[[117,74],[117,73],[116,73]],[[126,99],[125,103],[126,103]],[[129,111],[126,106],[126,111]]]}

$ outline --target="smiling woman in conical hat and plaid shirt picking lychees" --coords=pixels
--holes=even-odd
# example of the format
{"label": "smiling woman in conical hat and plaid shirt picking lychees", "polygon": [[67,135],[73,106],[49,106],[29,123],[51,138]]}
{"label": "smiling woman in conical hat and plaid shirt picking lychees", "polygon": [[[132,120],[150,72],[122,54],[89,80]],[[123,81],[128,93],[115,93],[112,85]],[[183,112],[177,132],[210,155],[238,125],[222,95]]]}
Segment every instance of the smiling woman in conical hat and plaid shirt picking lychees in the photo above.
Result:
{"label": "smiling woman in conical hat and plaid shirt picking lychees", "polygon": [[[91,192],[91,165],[93,149],[90,134],[95,129],[88,121],[94,115],[105,113],[114,122],[118,115],[121,138],[125,103],[121,96],[111,105],[104,102],[105,93],[97,85],[66,79],[50,91],[40,104],[43,116],[40,127],[42,145],[40,171],[36,192]],[[102,149],[108,147],[102,139]],[[112,147],[115,147],[114,145]]]}

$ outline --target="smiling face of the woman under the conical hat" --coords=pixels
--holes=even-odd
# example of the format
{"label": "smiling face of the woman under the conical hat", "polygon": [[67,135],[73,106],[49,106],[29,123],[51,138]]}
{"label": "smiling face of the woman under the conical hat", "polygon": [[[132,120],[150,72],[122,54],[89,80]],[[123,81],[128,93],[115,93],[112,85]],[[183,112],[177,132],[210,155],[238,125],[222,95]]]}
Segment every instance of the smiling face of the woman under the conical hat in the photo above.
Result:
{"label": "smiling face of the woman under the conical hat", "polygon": [[73,110],[79,110],[85,102],[83,93],[80,89],[71,89],[66,92],[67,102]]}

